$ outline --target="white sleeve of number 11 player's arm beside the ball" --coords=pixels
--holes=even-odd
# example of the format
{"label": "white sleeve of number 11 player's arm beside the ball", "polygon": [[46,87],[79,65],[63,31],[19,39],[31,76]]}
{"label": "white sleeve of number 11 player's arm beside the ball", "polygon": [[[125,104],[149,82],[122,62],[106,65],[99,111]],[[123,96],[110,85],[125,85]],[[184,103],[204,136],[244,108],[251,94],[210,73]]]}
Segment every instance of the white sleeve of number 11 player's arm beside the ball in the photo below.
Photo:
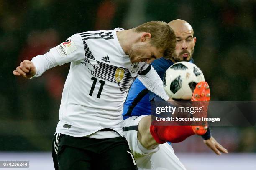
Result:
{"label": "white sleeve of number 11 player's arm beside the ball", "polygon": [[156,70],[151,67],[145,75],[138,75],[138,79],[146,86],[148,90],[167,101],[170,97],[166,95],[161,78]]}

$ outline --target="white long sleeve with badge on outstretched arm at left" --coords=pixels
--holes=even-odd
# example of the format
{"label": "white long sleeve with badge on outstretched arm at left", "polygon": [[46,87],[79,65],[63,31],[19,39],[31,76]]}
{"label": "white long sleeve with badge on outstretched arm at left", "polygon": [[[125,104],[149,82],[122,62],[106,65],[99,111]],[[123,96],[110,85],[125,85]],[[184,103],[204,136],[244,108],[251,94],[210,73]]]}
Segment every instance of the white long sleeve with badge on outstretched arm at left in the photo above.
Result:
{"label": "white long sleeve with badge on outstretched arm at left", "polygon": [[46,54],[33,57],[31,62],[36,67],[36,75],[33,77],[38,77],[46,70],[57,65],[82,61],[84,60],[84,55],[84,45],[81,36],[79,34],[72,35],[65,42],[52,48]]}

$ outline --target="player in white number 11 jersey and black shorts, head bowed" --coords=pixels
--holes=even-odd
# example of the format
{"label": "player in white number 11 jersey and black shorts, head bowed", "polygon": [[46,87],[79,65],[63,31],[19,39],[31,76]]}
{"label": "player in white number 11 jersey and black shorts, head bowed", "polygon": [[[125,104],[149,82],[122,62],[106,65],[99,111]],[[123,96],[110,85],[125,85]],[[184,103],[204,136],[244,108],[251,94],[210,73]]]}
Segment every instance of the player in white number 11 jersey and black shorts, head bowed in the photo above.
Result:
{"label": "player in white number 11 jersey and black shorts, head bowed", "polygon": [[33,78],[71,62],[53,140],[56,170],[137,169],[123,137],[123,103],[137,77],[169,99],[150,63],[172,55],[175,45],[169,25],[151,21],[130,30],[77,33],[46,54],[20,63],[13,74]]}

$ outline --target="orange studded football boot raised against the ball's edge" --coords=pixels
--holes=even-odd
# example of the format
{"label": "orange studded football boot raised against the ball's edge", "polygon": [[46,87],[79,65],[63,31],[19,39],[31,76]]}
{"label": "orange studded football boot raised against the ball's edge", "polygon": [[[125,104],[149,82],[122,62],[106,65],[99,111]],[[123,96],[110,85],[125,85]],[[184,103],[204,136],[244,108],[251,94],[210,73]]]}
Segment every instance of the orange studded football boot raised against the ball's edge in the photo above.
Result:
{"label": "orange studded football boot raised against the ball's edge", "polygon": [[[202,81],[199,82],[192,94],[191,101],[205,101],[205,102],[194,102],[192,105],[197,105],[197,107],[204,107],[204,117],[207,117],[207,108],[210,101],[210,88],[207,82]],[[191,126],[195,134],[197,135],[204,135],[207,131],[208,125],[207,122],[204,123],[205,125],[198,125],[198,126]]]}

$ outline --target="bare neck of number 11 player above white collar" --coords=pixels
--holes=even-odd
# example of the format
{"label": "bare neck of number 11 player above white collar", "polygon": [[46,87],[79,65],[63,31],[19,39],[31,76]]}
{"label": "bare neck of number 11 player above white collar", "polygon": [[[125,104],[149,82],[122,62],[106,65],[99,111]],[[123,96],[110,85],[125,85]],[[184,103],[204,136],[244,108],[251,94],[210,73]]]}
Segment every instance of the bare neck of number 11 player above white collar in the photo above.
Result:
{"label": "bare neck of number 11 player above white collar", "polygon": [[132,44],[138,39],[138,36],[136,36],[136,33],[132,29],[118,31],[116,32],[116,36],[125,54],[128,54]]}

